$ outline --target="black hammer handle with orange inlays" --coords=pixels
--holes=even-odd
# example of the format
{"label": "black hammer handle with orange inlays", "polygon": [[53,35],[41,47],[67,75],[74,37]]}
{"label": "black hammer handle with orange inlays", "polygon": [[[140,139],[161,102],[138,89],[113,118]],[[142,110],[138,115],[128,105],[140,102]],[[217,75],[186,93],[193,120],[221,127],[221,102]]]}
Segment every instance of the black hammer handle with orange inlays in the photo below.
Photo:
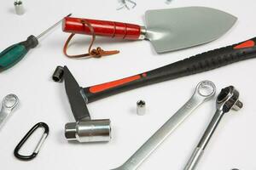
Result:
{"label": "black hammer handle with orange inlays", "polygon": [[133,88],[209,71],[224,65],[255,57],[256,37],[246,42],[214,49],[203,54],[197,54],[193,57],[133,77],[126,77],[113,82],[84,88],[84,93],[88,98],[88,102],[92,102]]}

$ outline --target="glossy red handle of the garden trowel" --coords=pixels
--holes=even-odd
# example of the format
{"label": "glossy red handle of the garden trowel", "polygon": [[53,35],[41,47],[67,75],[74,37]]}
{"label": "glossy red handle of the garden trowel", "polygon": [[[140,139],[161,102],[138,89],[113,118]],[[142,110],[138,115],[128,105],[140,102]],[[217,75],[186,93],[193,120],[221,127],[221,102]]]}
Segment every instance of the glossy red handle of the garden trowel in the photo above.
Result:
{"label": "glossy red handle of the garden trowel", "polygon": [[90,26],[94,29],[94,33],[98,36],[137,40],[141,35],[141,26],[107,20],[89,20],[73,17],[64,18],[62,31],[91,35],[90,28],[84,25],[83,20],[90,23]]}

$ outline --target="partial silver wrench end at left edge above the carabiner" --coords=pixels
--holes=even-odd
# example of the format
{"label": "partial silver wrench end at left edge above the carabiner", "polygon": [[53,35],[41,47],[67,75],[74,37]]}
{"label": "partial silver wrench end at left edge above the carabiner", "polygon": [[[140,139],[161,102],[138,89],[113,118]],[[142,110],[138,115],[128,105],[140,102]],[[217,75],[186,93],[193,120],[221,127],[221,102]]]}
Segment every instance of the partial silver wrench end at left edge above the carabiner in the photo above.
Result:
{"label": "partial silver wrench end at left edge above the carabiner", "polygon": [[10,113],[18,105],[19,99],[15,94],[8,94],[3,99],[2,109],[0,111],[0,129],[3,127],[3,124],[6,122]]}

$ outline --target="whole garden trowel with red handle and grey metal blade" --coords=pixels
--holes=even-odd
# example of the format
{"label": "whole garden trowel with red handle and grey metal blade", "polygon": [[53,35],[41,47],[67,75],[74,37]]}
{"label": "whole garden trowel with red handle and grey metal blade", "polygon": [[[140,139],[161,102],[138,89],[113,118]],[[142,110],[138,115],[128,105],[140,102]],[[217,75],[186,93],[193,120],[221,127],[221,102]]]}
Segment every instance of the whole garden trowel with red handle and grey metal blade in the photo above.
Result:
{"label": "whole garden trowel with red handle and grey metal blade", "polygon": [[157,53],[189,48],[211,42],[230,30],[236,17],[214,8],[185,7],[148,10],[146,26],[66,17],[62,30],[71,33],[91,35],[90,23],[98,36],[122,39],[147,39]]}

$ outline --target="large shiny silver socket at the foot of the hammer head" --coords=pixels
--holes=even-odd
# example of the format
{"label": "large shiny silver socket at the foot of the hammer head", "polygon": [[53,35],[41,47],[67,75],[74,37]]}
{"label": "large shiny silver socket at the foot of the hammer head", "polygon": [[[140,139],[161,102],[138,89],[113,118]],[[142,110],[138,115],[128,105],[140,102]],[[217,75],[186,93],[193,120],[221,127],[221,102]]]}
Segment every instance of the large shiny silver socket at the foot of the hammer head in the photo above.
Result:
{"label": "large shiny silver socket at the foot of the hammer head", "polygon": [[69,141],[108,142],[111,139],[110,120],[90,120],[67,123],[65,136]]}

